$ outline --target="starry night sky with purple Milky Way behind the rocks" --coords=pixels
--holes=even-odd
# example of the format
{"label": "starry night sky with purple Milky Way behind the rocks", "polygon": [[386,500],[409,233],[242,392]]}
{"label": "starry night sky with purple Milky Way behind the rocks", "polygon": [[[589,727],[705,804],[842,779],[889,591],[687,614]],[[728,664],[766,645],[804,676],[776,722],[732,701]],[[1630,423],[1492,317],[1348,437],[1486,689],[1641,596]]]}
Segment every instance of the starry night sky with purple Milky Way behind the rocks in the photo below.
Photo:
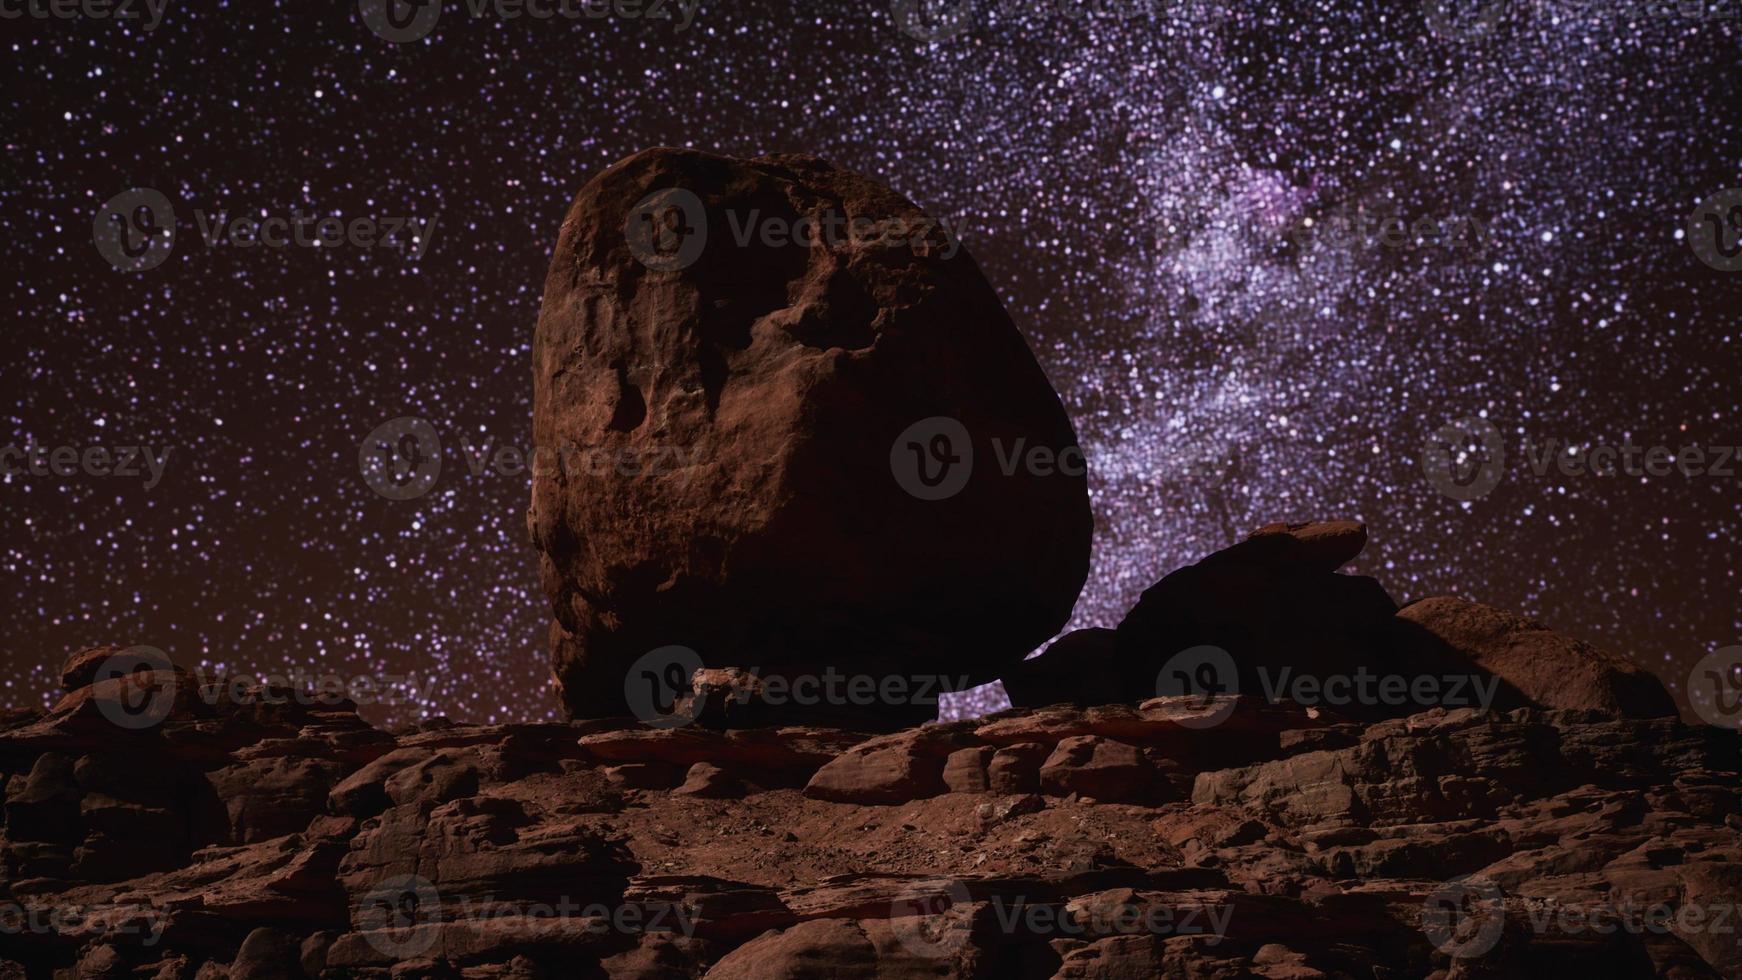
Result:
{"label": "starry night sky with purple Milky Way behind the rocks", "polygon": [[[986,2],[923,44],[883,2],[704,0],[683,31],[446,7],[413,44],[341,2],[167,0],[153,31],[0,21],[5,444],[169,451],[152,489],[0,477],[0,705],[52,703],[82,646],[143,642],[247,672],[415,672],[423,701],[395,721],[554,717],[530,480],[472,475],[458,442],[526,446],[557,225],[652,144],[812,151],[965,223],[1090,460],[1073,625],[1117,623],[1259,524],[1359,517],[1355,567],[1399,601],[1528,613],[1678,698],[1742,642],[1742,477],[1519,461],[1526,439],[1742,442],[1742,272],[1686,237],[1742,186],[1735,19],[1507,3],[1435,31],[1397,2]],[[141,273],[92,244],[129,188],[178,219]],[[422,259],[207,247],[195,219],[293,209],[439,218]],[[1482,233],[1289,233],[1357,212]],[[357,470],[399,416],[448,446],[411,501]],[[1509,453],[1467,503],[1421,472],[1423,439],[1462,416]]]}

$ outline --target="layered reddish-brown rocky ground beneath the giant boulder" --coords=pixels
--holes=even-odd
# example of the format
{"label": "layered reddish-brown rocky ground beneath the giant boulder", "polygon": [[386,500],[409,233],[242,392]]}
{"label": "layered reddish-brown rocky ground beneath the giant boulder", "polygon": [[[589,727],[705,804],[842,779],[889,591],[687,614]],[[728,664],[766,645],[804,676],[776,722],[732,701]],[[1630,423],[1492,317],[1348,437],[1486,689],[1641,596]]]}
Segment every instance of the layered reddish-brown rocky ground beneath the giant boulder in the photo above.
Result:
{"label": "layered reddish-brown rocky ground beneath the giant boulder", "polygon": [[85,651],[0,731],[0,977],[1742,977],[1742,740],[1411,609],[1529,703],[385,733]]}

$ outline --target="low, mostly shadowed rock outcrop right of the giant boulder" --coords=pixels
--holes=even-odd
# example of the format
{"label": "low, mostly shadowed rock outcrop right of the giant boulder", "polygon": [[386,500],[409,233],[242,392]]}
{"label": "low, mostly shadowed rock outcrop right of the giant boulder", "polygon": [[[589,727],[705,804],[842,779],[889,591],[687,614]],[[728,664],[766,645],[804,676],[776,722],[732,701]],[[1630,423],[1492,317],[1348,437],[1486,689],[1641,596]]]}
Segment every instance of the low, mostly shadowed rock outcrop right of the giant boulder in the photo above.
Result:
{"label": "low, mostly shadowed rock outcrop right of the giant boulder", "polygon": [[1366,541],[1354,520],[1259,527],[1162,578],[1118,630],[1066,634],[1003,688],[1017,707],[1239,693],[1359,721],[1435,705],[1676,714],[1650,672],[1540,623],[1453,597],[1397,609],[1378,581],[1338,571]]}

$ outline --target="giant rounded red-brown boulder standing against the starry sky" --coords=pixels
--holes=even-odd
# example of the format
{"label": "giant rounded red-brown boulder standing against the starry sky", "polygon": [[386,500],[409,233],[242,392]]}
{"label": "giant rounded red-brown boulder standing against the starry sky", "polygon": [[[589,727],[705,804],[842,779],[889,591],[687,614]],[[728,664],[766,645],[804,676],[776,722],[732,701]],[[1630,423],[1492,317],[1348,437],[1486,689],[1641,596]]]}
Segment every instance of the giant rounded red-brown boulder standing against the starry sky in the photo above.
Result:
{"label": "giant rounded red-brown boulder standing against the starry sky", "polygon": [[991,681],[1087,576],[1077,437],[991,285],[916,205],[814,157],[650,150],[580,190],[533,442],[577,717],[632,708],[627,668],[665,646]]}

